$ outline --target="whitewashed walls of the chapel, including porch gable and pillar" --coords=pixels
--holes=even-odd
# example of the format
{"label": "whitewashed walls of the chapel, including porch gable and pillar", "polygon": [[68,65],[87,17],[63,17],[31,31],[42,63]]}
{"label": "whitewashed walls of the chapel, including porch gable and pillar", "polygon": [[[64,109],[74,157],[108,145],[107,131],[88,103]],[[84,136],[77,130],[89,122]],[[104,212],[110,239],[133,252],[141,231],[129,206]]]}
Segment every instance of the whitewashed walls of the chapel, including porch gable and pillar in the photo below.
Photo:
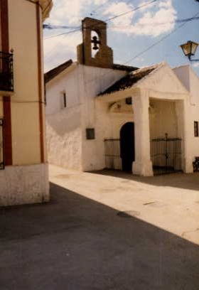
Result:
{"label": "whitewashed walls of the chapel, including porch gable and pillar", "polygon": [[[47,83],[49,162],[81,171],[122,169],[119,156],[105,160],[104,139],[119,139],[122,126],[134,122],[134,174],[153,176],[150,140],[165,134],[182,139],[182,169],[192,172],[199,156],[193,126],[199,121],[198,77],[189,67],[172,70],[162,63],[133,86],[99,95],[124,75],[127,72],[122,70],[73,63]],[[132,105],[126,104],[127,97]],[[86,128],[95,128],[95,139],[86,139]]]}

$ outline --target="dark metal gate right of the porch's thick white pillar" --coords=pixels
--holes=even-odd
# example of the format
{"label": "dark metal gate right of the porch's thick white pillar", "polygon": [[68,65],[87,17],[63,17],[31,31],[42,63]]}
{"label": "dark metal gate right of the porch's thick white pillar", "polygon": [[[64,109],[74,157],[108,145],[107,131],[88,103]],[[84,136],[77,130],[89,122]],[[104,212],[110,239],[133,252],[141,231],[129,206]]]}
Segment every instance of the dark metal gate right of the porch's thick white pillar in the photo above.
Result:
{"label": "dark metal gate right of the porch's thick white pillar", "polygon": [[168,134],[151,140],[151,161],[155,175],[182,170],[181,141],[180,138],[168,138]]}

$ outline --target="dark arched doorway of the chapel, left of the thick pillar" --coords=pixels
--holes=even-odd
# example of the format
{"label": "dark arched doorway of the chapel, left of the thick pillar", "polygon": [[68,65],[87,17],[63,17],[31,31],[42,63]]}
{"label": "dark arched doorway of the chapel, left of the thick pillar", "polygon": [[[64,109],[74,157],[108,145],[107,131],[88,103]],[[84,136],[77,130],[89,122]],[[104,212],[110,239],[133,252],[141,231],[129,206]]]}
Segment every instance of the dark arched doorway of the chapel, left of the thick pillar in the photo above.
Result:
{"label": "dark arched doorway of the chapel, left of the thick pillar", "polygon": [[132,162],[135,160],[134,123],[128,122],[120,130],[120,156],[122,170],[131,171]]}

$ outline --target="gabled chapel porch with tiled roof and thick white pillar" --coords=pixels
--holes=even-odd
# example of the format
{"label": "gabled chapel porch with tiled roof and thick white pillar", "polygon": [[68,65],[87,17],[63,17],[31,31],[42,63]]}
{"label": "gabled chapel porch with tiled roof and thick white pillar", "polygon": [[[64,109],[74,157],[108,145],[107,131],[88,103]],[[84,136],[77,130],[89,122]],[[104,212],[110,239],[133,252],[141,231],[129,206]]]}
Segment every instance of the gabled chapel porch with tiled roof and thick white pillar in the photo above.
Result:
{"label": "gabled chapel porch with tiled roof and thick white pillar", "polygon": [[[166,64],[133,72],[99,95],[99,102],[109,104],[112,112],[121,116],[125,111],[124,101],[131,99],[131,119],[125,115],[117,134],[113,136],[110,132],[104,136],[106,167],[124,169],[124,155],[127,155],[131,159],[129,171],[136,175],[193,172],[186,122],[189,97]],[[122,153],[121,131],[128,122],[134,127],[126,142],[132,143],[131,155]]]}

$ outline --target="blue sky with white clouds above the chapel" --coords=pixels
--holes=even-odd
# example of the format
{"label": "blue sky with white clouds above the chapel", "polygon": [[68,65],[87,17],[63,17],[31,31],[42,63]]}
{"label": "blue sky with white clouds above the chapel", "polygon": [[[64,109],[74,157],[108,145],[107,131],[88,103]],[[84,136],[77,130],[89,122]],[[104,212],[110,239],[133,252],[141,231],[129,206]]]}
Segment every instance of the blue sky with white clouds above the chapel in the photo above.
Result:
{"label": "blue sky with white clouds above the chapel", "polygon": [[[171,67],[188,64],[179,45],[189,40],[199,43],[199,20],[185,23],[171,36],[153,48],[150,45],[161,40],[181,25],[178,19],[190,18],[198,13],[199,2],[195,0],[54,0],[50,18],[45,23],[55,26],[68,26],[68,29],[44,30],[45,71],[72,58],[76,60],[76,46],[82,42],[81,20],[93,17],[103,21],[132,9],[124,16],[108,21],[107,41],[114,50],[114,63],[143,67],[166,61]],[[74,33],[70,31],[77,30]],[[60,33],[68,33],[56,36]],[[142,53],[147,50],[146,53]],[[136,55],[141,53],[136,58]],[[195,58],[199,58],[198,52]],[[199,62],[192,63],[199,76]]]}

